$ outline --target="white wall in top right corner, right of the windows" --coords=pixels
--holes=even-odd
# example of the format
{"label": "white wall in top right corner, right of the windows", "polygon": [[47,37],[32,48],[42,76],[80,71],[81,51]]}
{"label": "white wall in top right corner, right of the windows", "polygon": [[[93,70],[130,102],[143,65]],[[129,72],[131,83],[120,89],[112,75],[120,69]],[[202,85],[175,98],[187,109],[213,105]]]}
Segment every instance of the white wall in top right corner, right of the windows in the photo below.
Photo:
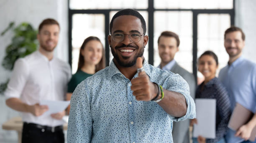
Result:
{"label": "white wall in top right corner, right of the windows", "polygon": [[243,57],[256,62],[256,0],[236,0],[235,25],[246,35]]}

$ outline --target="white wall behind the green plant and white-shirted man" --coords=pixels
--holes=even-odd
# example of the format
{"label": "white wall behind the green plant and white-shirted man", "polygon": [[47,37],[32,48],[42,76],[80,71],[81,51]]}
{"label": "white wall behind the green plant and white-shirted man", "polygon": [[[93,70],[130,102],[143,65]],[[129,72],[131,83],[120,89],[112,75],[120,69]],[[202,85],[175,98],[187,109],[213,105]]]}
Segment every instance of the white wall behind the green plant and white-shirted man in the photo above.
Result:
{"label": "white wall behind the green plant and white-shirted man", "polygon": [[[42,20],[54,18],[61,27],[59,44],[56,47],[55,56],[68,62],[68,2],[67,0],[0,0],[0,32],[8,27],[10,22],[15,25],[21,22],[29,22],[35,29]],[[5,55],[5,47],[10,44],[13,34],[7,32],[0,37],[0,63]],[[10,72],[0,66],[0,83],[8,79]],[[18,116],[5,105],[5,100],[0,95],[0,143],[17,143],[18,136],[15,131],[5,131],[2,124],[8,119]]]}

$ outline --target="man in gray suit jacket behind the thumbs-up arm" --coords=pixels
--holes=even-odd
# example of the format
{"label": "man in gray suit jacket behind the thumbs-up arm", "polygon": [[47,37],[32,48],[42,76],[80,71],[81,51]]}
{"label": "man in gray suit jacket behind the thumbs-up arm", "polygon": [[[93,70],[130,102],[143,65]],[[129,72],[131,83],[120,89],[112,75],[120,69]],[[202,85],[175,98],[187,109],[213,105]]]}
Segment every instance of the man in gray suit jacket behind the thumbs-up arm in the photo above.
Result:
{"label": "man in gray suit jacket behind the thumbs-up arm", "polygon": [[[174,60],[179,51],[179,36],[170,31],[162,32],[158,38],[158,50],[161,58],[159,68],[182,76],[189,84],[190,96],[195,99],[195,77]],[[172,138],[174,143],[189,143],[189,120],[173,123]]]}

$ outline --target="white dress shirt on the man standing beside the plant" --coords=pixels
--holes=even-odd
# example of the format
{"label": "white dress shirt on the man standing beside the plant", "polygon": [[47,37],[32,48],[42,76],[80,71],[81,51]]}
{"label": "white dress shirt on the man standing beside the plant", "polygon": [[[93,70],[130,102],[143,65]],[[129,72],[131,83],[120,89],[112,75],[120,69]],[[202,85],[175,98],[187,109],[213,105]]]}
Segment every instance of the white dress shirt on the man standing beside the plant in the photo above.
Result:
{"label": "white dress shirt on the man standing beside the plant", "polygon": [[[28,105],[40,103],[41,100],[64,100],[70,78],[69,64],[56,57],[49,61],[36,51],[15,62],[5,97],[19,98]],[[59,126],[64,123],[51,116],[36,117],[28,112],[22,112],[22,119],[27,123],[44,126]]]}

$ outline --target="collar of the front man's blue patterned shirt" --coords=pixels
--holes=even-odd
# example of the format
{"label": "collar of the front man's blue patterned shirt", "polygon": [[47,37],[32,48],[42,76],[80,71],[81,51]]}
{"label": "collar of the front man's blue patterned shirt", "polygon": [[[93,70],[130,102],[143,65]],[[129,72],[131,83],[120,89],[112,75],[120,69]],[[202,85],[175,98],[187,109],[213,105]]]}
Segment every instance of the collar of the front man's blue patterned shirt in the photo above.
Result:
{"label": "collar of the front man's blue patterned shirt", "polygon": [[[151,72],[150,72],[150,67],[149,67],[149,64],[148,62],[146,61],[146,59],[144,58],[144,61],[143,61],[143,67],[144,67],[144,70],[146,72],[146,74],[149,76],[149,78],[151,77]],[[108,69],[108,77],[112,77],[114,76],[115,74],[122,74],[119,69],[115,66],[115,63],[112,59],[112,61],[110,62],[110,65],[109,65],[109,69]],[[123,75],[123,74],[122,74]],[[134,75],[134,77],[137,77],[138,76],[138,73],[136,73]]]}

